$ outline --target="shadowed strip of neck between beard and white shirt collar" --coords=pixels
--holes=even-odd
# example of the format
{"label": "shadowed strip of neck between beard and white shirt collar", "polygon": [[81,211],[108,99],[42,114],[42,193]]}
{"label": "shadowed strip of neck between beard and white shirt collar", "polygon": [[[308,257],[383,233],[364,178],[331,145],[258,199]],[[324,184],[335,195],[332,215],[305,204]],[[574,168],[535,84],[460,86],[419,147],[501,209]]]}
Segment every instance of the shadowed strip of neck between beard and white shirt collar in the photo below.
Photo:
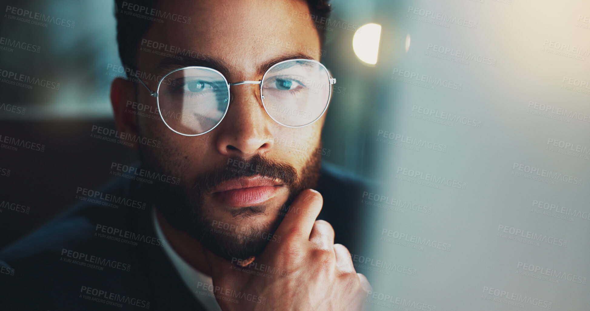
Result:
{"label": "shadowed strip of neck between beard and white shirt collar", "polygon": [[156,220],[162,229],[162,233],[169,245],[176,251],[184,261],[190,264],[196,270],[201,273],[211,276],[211,267],[205,260],[205,247],[186,233],[176,230],[173,228],[166,218],[156,208]]}

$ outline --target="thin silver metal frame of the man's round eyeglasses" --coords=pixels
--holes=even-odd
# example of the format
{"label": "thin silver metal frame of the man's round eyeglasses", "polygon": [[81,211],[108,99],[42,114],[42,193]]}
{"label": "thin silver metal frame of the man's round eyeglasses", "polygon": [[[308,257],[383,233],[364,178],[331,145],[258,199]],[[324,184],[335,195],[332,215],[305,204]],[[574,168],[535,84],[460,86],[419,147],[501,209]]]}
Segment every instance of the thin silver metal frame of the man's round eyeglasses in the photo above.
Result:
{"label": "thin silver metal frame of the man's round eyeglasses", "polygon": [[[263,81],[264,78],[266,77],[266,74],[268,73],[268,71],[270,71],[272,68],[274,68],[275,66],[278,66],[280,64],[283,63],[287,63],[290,61],[311,61],[313,63],[318,64],[319,66],[321,66],[324,70],[326,70],[327,76],[328,76],[328,81],[330,83],[330,88],[329,88],[329,95],[328,95],[328,102],[326,103],[326,107],[324,108],[324,110],[322,111],[322,113],[316,118],[314,119],[312,122],[309,122],[305,125],[299,125],[299,126],[290,126],[290,125],[285,125],[281,122],[279,122],[277,119],[274,119],[273,116],[270,115],[270,113],[268,113],[268,110],[266,109],[266,105],[264,104],[264,95],[262,94],[262,86],[263,86]],[[244,80],[244,81],[238,81],[238,82],[233,82],[233,83],[229,83],[227,81],[227,78],[225,78],[225,76],[220,73],[219,71],[213,69],[213,68],[209,68],[209,67],[201,67],[201,66],[189,66],[189,67],[182,67],[182,68],[178,68],[175,70],[170,71],[169,73],[165,74],[160,81],[158,81],[158,88],[156,89],[156,91],[152,91],[150,90],[150,88],[148,86],[146,86],[145,83],[143,83],[142,79],[140,79],[139,77],[137,77],[137,73],[133,73],[133,76],[135,76],[137,78],[137,80],[139,80],[140,83],[143,84],[143,86],[145,86],[146,89],[148,89],[150,96],[152,97],[156,97],[156,103],[158,103],[158,113],[160,114],[160,119],[162,119],[162,122],[164,122],[164,124],[171,129],[173,132],[178,133],[180,135],[184,135],[184,136],[199,136],[199,135],[203,135],[206,134],[208,132],[211,132],[213,129],[215,129],[215,127],[217,127],[219,124],[221,124],[221,121],[223,121],[223,119],[225,118],[225,114],[227,114],[227,111],[230,109],[230,103],[231,100],[229,100],[229,102],[227,103],[227,106],[225,107],[225,112],[223,113],[223,116],[221,116],[221,119],[219,119],[219,122],[217,122],[217,124],[214,127],[211,127],[211,129],[203,132],[203,133],[199,133],[199,134],[184,134],[181,132],[178,132],[177,130],[173,129],[171,126],[168,125],[168,123],[166,123],[166,120],[164,120],[164,117],[162,116],[162,111],[160,110],[160,100],[158,98],[158,92],[160,91],[160,86],[162,85],[162,81],[168,77],[170,74],[175,73],[176,71],[179,70],[184,70],[184,69],[207,69],[207,70],[211,70],[214,71],[215,73],[218,73],[219,76],[221,76],[223,78],[223,80],[225,81],[225,84],[227,85],[227,93],[228,93],[228,99],[231,99],[231,93],[230,93],[230,86],[239,86],[240,84],[260,84],[260,101],[262,103],[262,106],[264,107],[264,111],[266,112],[266,114],[268,114],[268,116],[274,120],[274,122],[277,122],[278,124],[282,125],[282,126],[286,126],[286,127],[291,127],[291,128],[298,128],[298,127],[303,127],[303,126],[308,126],[311,125],[312,123],[316,122],[317,120],[320,119],[320,117],[322,117],[324,115],[324,113],[326,113],[326,110],[328,109],[328,106],[330,104],[330,99],[332,99],[332,84],[336,83],[336,78],[333,78],[332,75],[330,74],[330,71],[327,70],[326,66],[324,66],[322,63],[320,63],[319,61],[316,60],[308,60],[306,58],[293,58],[291,60],[284,60],[284,61],[280,61],[276,64],[274,64],[273,66],[271,66],[270,68],[268,68],[266,70],[266,72],[264,73],[264,75],[262,76],[261,80],[258,81],[252,81],[252,80]]]}

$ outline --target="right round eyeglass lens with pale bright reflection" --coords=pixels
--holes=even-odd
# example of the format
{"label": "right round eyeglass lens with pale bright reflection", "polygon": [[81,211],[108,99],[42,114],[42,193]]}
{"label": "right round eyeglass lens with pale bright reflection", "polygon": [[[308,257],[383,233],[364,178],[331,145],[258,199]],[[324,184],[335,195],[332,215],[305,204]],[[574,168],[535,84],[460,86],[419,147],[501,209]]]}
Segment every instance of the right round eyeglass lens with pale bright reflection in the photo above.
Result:
{"label": "right round eyeglass lens with pale bright reflection", "polygon": [[262,81],[268,114],[287,126],[304,126],[322,115],[330,97],[326,68],[309,60],[288,60],[267,71]]}

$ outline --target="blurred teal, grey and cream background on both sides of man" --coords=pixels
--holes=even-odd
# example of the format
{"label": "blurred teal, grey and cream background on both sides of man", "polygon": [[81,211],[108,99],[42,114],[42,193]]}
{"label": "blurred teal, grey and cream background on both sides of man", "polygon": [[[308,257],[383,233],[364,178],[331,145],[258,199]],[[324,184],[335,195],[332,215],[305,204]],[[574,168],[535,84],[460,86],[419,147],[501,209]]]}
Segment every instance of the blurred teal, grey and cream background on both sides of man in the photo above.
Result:
{"label": "blurred teal, grey and cream background on both sides of man", "polygon": [[[0,148],[0,201],[28,208],[0,210],[0,248],[107,181],[110,159],[136,157],[90,137],[115,127],[113,2],[1,3],[1,72],[52,84],[0,83],[0,135],[34,146]],[[588,310],[590,2],[332,7],[323,161],[381,185],[358,198],[368,222],[353,254],[372,308]]]}

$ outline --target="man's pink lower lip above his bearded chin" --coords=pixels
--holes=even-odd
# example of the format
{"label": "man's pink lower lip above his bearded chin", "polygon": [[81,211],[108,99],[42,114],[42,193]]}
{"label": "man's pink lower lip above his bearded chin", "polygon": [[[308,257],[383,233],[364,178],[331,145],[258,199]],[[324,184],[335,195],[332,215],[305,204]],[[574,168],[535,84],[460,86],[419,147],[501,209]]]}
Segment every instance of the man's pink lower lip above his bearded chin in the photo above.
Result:
{"label": "man's pink lower lip above his bearded chin", "polygon": [[248,207],[261,204],[272,198],[278,191],[279,187],[280,185],[232,189],[215,192],[213,197],[217,198],[224,204],[231,205],[232,207]]}

